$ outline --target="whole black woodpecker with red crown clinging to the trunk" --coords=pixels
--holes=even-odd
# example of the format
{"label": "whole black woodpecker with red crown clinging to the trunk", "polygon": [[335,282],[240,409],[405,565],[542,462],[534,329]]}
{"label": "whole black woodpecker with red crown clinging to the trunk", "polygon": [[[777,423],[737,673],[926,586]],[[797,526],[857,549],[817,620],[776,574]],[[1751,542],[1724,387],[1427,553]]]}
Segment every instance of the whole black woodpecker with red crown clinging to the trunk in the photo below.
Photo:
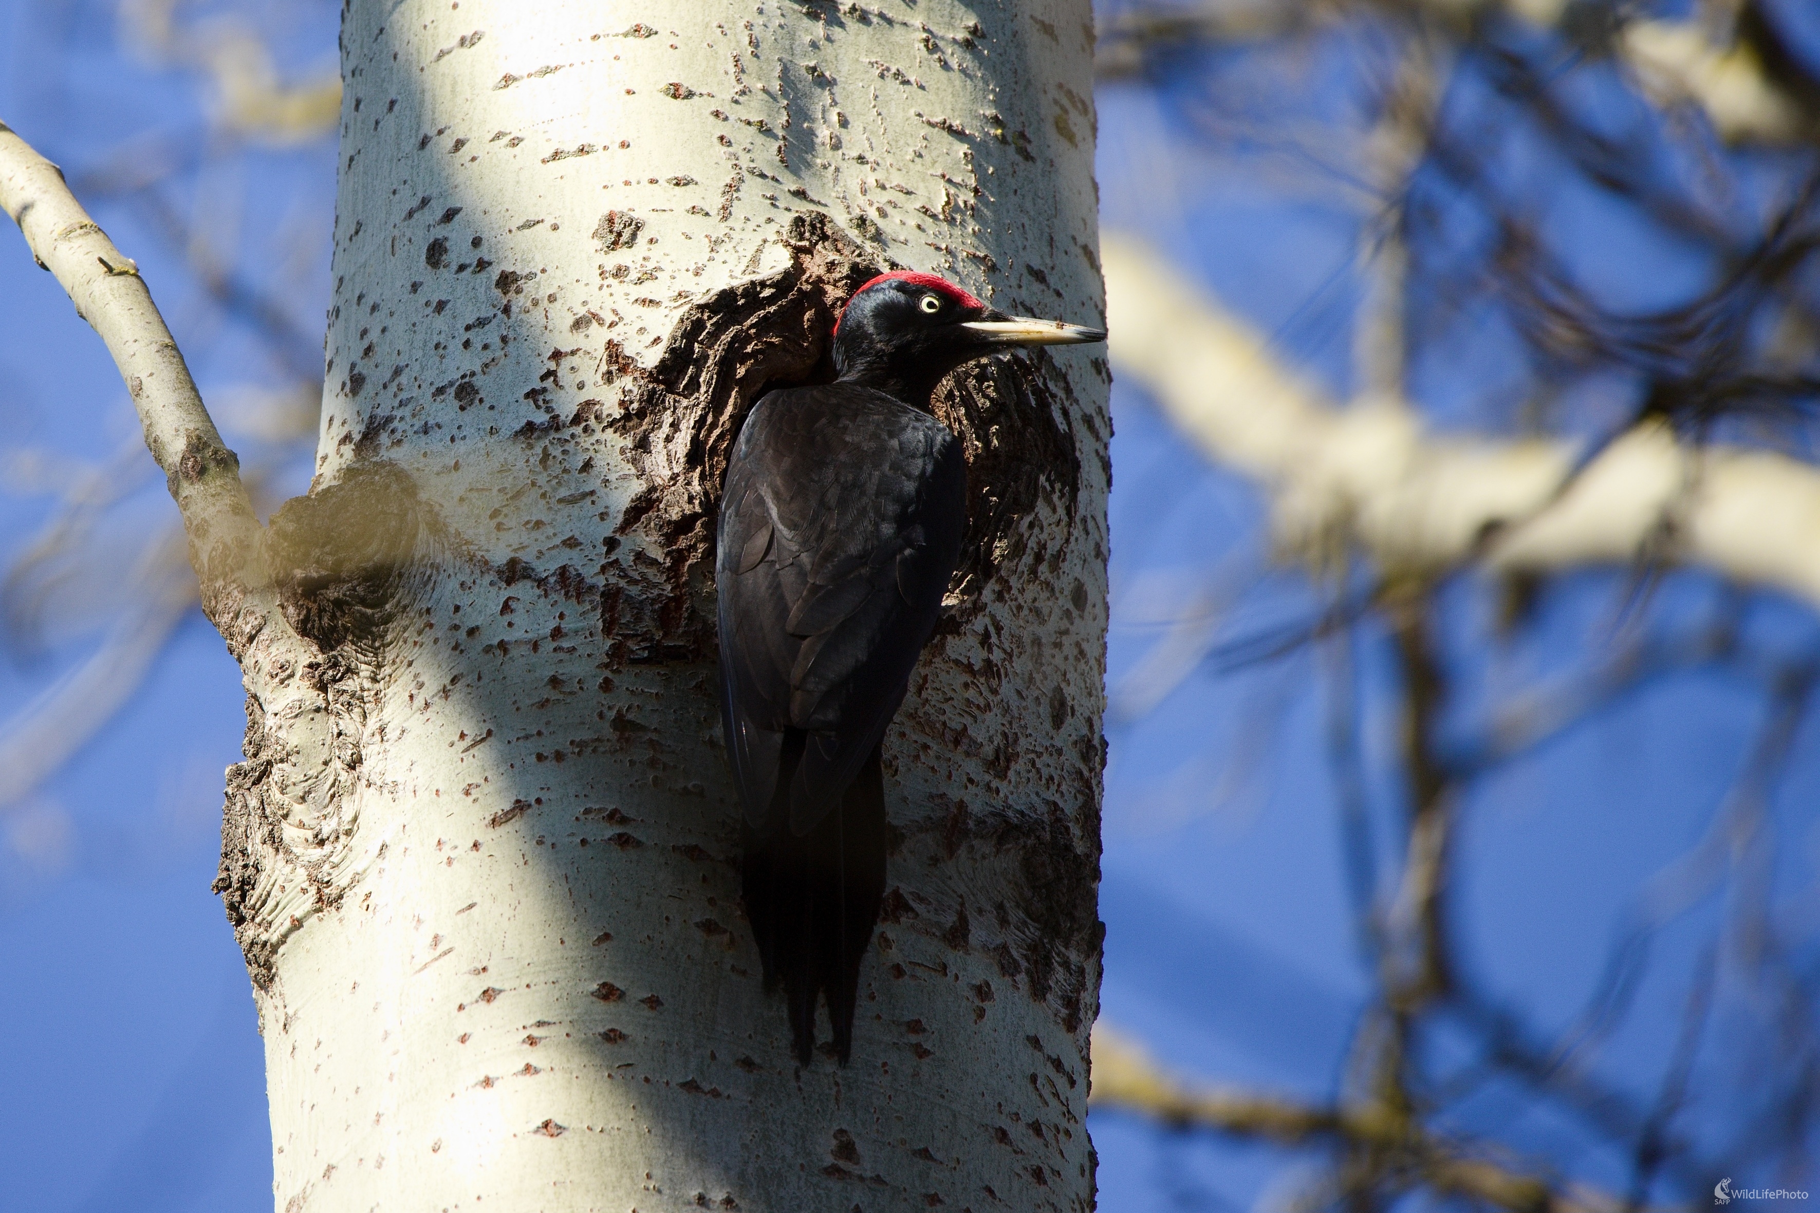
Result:
{"label": "whole black woodpecker with red crown clinging to the trunk", "polygon": [[835,1053],[852,1053],[885,898],[879,744],[966,531],[961,444],[930,395],[963,362],[1105,336],[1006,316],[934,275],[881,275],[834,326],[839,378],[764,393],[739,431],[715,560],[721,718],[746,917],[804,1066],[824,993]]}

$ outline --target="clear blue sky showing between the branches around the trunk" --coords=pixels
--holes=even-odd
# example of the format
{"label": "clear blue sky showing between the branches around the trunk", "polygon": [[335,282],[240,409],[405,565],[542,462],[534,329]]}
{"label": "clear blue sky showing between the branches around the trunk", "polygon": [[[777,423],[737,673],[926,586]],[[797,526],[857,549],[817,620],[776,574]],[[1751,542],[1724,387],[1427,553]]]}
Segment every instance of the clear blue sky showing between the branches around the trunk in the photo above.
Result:
{"label": "clear blue sky showing between the branches around the trunk", "polygon": [[[284,27],[286,67],[333,62],[335,9],[298,5]],[[1136,87],[1099,96],[1105,224],[1138,231],[1285,353],[1345,387],[1350,264],[1358,216],[1320,196],[1285,196],[1207,151],[1187,104]],[[0,0],[0,116],[71,176],[144,136],[177,145],[206,131],[198,84],[122,55],[111,7]],[[242,253],[286,226],[308,236],[333,198],[333,151],[253,153],[186,175],[184,191],[235,198]],[[1572,198],[1562,200],[1574,207]],[[157,286],[178,280],[173,253],[138,213],[96,202],[98,218]],[[209,211],[202,211],[209,215]],[[220,220],[220,215],[215,215]],[[1567,220],[1607,247],[1598,207]],[[289,300],[315,324],[326,298],[326,218],[318,262]],[[11,244],[9,244],[11,240]],[[1623,260],[1622,247],[1609,256]],[[1634,256],[1633,256],[1634,260]],[[1665,262],[1662,275],[1694,273]],[[1674,282],[1616,275],[1638,298]],[[1616,287],[1614,287],[1616,289]],[[173,296],[175,295],[175,296]],[[244,331],[206,302],[160,291],[204,395],[280,375],[249,356]],[[13,447],[95,462],[131,442],[126,395],[93,333],[16,236],[0,233],[0,418]],[[1485,396],[1516,382],[1516,351],[1491,322],[1467,326],[1445,358],[1412,366],[1440,424],[1483,418]],[[1112,587],[1108,680],[1114,695],[1198,595],[1239,569],[1234,635],[1296,618],[1312,602],[1292,575],[1263,566],[1261,502],[1210,467],[1123,382],[1114,389]],[[233,435],[231,435],[233,438]],[[251,442],[237,438],[235,444]],[[169,520],[149,458],[118,511],[131,547]],[[291,467],[284,491],[302,487]],[[280,482],[284,476],[280,476]],[[46,516],[44,498],[0,493],[0,553],[16,553]],[[135,538],[136,536],[136,538]],[[1256,575],[1245,573],[1258,569]],[[1596,657],[1627,624],[1616,573],[1560,578],[1509,646],[1489,646],[1487,586],[1443,591],[1441,642],[1461,687],[1447,726],[1474,735],[1487,686]],[[1665,580],[1645,626],[1696,629],[1720,589],[1696,575]],[[24,709],[93,646],[55,637],[0,658],[0,718]],[[1813,617],[1753,600],[1745,642],[1767,655],[1820,651]],[[1392,686],[1383,640],[1358,642],[1369,793],[1394,820]],[[1502,682],[1500,682],[1502,680]],[[1352,937],[1336,815],[1323,757],[1323,684],[1312,653],[1187,677],[1143,717],[1108,722],[1101,915],[1105,1017],[1185,1075],[1332,1097],[1369,975]],[[1456,884],[1461,958],[1500,1002],[1552,1031],[1572,1020],[1605,975],[1609,947],[1649,906],[1653,886],[1709,831],[1765,711],[1760,682],[1736,671],[1660,678],[1596,718],[1476,784],[1463,809]],[[42,1213],[133,1208],[204,1213],[260,1208],[271,1182],[260,1042],[246,973],[218,898],[220,771],[238,758],[240,687],[233,662],[193,615],[131,704],[27,802],[0,811],[0,1173],[9,1208]],[[1769,802],[1782,847],[1758,891],[1785,907],[1813,973],[1820,898],[1820,726],[1807,720]],[[1660,880],[1658,880],[1660,884]],[[1673,1042],[1689,973],[1714,937],[1718,891],[1654,942],[1636,1011],[1596,1058],[1600,1077],[1647,1095]],[[1724,1007],[1724,1048],[1702,1064],[1733,1073],[1749,1042]],[[1434,1046],[1452,1048],[1447,1038]],[[1460,1046],[1461,1049],[1465,1046]],[[1698,1071],[1696,1073],[1705,1073]],[[1714,1086],[1718,1091],[1722,1084]],[[1722,1138],[1736,1093],[1696,1097],[1689,1124]],[[1461,1124],[1613,1178],[1618,1160],[1574,1124],[1534,1111],[1489,1082]],[[1096,1113],[1101,1208],[1225,1209],[1287,1193],[1285,1155]],[[1744,1177],[1740,1177],[1740,1184]]]}

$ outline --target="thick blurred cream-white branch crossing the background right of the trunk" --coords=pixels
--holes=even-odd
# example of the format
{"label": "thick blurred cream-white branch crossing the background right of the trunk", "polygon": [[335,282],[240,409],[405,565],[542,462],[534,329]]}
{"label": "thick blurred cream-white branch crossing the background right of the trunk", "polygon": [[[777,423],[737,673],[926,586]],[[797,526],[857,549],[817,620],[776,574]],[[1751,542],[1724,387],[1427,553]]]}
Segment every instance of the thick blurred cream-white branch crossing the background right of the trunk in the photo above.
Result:
{"label": "thick blurred cream-white branch crossing the background right of the trunk", "polygon": [[1103,256],[1114,362],[1203,455],[1259,482],[1285,556],[1356,542],[1392,573],[1469,558],[1547,573],[1649,555],[1820,606],[1809,464],[1640,426],[1569,484],[1569,442],[1438,436],[1410,409],[1343,409],[1138,242],[1107,235]]}

